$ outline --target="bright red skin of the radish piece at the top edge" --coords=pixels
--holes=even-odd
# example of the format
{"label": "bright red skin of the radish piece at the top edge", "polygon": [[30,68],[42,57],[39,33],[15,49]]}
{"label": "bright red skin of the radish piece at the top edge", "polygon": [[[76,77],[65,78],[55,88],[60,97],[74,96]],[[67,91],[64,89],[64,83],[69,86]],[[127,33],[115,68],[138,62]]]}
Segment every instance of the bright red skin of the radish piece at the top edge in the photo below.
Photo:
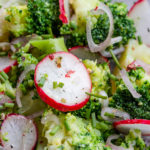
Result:
{"label": "bright red skin of the radish piece at the top edge", "polygon": [[62,21],[62,23],[67,24],[68,18],[66,16],[64,0],[59,0],[59,9],[60,9],[59,19]]}

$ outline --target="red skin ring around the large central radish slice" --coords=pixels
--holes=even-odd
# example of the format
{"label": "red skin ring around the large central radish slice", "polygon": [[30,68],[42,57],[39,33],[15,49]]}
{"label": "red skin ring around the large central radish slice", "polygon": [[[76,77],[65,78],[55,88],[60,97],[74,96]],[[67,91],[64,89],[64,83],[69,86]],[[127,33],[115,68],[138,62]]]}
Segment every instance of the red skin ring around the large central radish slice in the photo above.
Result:
{"label": "red skin ring around the large central radish slice", "polygon": [[[46,94],[46,92],[38,86],[38,81],[37,81],[37,72],[38,72],[38,68],[39,66],[45,61],[45,59],[47,58],[55,58],[55,55],[70,55],[72,58],[76,59],[78,62],[80,62],[80,64],[82,64],[82,67],[83,69],[86,70],[86,76],[88,77],[88,82],[89,82],[89,90],[87,92],[91,92],[91,89],[92,89],[92,83],[91,83],[91,79],[90,79],[90,76],[89,76],[89,73],[86,69],[86,67],[84,66],[83,63],[81,63],[81,61],[79,60],[79,58],[77,58],[76,56],[72,55],[71,53],[67,53],[67,52],[56,52],[54,54],[51,54],[51,55],[48,55],[47,57],[45,57],[37,66],[36,66],[36,69],[35,69],[35,75],[34,75],[34,82],[35,82],[35,86],[37,88],[37,92],[39,94],[39,96],[41,97],[41,99],[47,103],[48,105],[50,105],[51,107],[57,109],[57,110],[60,110],[60,111],[63,111],[63,112],[67,112],[67,111],[75,111],[75,110],[78,110],[80,108],[82,108],[89,100],[89,96],[86,95],[86,99],[84,99],[82,102],[79,102],[77,104],[73,104],[73,105],[67,105],[67,104],[64,104],[64,103],[60,103],[58,101],[56,101],[55,99],[51,98],[50,96],[48,96],[48,94]],[[49,59],[51,61],[53,61],[52,59]],[[72,68],[70,68],[72,71],[74,71]],[[69,70],[70,71],[70,70]],[[76,71],[74,71],[72,75],[74,75],[76,73]],[[65,75],[64,75],[65,76]],[[65,77],[66,78],[66,77]],[[70,78],[67,78],[67,79],[70,79]]]}

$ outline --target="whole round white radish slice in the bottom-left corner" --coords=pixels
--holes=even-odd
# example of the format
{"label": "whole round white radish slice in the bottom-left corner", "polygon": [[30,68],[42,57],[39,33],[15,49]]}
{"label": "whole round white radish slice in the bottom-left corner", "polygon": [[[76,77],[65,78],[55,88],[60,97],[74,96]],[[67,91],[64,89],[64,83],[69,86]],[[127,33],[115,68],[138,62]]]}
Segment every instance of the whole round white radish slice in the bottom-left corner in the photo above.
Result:
{"label": "whole round white radish slice in the bottom-left corner", "polygon": [[37,141],[37,129],[21,115],[9,115],[2,123],[1,141],[5,150],[32,150]]}

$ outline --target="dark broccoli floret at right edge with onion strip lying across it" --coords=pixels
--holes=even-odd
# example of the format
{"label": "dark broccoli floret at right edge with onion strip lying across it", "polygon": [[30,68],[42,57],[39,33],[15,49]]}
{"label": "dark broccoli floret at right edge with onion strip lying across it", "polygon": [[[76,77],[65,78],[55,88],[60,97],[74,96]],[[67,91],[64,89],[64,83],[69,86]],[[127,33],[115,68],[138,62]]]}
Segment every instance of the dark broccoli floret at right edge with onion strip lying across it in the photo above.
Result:
{"label": "dark broccoli floret at right edge with onion strip lying across it", "polygon": [[120,80],[116,83],[116,93],[112,96],[110,106],[123,109],[132,118],[150,119],[150,77],[141,67],[130,70],[128,76],[141,97],[134,98]]}

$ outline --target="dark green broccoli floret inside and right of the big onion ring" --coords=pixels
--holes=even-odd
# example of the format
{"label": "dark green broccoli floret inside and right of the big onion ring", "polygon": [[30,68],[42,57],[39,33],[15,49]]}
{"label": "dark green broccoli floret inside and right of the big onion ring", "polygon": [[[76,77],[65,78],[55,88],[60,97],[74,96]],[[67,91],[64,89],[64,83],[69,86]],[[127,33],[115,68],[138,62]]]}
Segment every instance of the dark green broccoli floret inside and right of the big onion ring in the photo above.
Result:
{"label": "dark green broccoli floret inside and right of the big onion ring", "polygon": [[[109,6],[114,18],[113,37],[121,36],[123,39],[115,46],[126,45],[130,39],[135,39],[136,29],[133,20],[128,18],[128,10],[124,3],[110,3]],[[92,36],[95,43],[103,42],[109,30],[109,19],[106,14],[100,15],[93,25]]]}

